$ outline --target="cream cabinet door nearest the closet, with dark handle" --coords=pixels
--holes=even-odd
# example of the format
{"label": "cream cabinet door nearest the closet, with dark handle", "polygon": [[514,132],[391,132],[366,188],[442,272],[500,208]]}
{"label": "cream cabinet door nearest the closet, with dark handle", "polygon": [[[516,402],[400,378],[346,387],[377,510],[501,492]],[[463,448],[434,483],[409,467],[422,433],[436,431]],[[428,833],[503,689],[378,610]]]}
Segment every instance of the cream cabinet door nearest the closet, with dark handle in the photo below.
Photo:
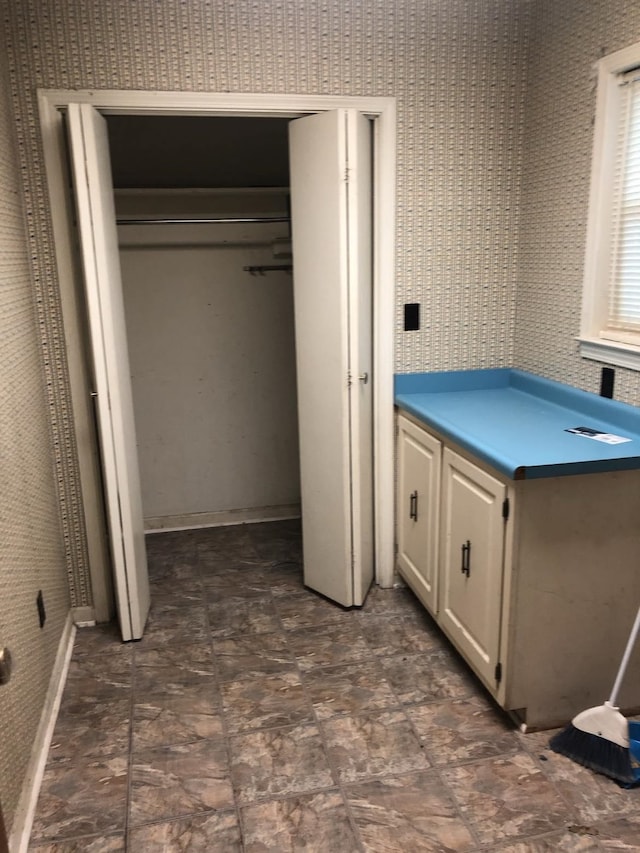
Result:
{"label": "cream cabinet door nearest the closet, with dark handle", "polygon": [[398,417],[398,569],[422,603],[437,609],[441,444]]}

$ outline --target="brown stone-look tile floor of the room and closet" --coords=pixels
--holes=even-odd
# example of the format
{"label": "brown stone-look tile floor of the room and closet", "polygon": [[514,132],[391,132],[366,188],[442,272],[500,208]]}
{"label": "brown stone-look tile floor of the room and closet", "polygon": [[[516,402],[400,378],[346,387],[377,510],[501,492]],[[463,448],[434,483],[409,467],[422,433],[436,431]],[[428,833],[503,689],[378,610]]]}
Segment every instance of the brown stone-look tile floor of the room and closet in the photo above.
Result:
{"label": "brown stone-look tile floor of the room and closet", "polygon": [[148,555],[144,639],[78,632],[31,850],[640,851],[640,790],[514,730],[407,589],[305,590],[297,522]]}

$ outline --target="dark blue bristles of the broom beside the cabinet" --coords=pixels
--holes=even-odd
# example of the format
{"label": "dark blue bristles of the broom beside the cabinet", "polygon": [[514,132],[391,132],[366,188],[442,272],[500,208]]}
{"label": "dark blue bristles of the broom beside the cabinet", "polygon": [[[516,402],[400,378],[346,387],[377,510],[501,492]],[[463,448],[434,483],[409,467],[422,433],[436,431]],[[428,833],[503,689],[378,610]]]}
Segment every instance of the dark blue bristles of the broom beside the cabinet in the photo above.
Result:
{"label": "dark blue bristles of the broom beside the cabinet", "polygon": [[584,732],[573,724],[555,734],[549,746],[576,764],[602,773],[621,785],[631,786],[639,781],[628,748],[599,735]]}

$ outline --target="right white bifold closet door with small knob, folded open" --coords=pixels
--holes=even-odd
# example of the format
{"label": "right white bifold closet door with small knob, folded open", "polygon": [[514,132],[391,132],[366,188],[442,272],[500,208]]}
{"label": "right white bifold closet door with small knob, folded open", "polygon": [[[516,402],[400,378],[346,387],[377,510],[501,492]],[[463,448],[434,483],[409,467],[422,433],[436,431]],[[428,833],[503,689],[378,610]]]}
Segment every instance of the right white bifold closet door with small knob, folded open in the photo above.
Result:
{"label": "right white bifold closet door with small knob, folded open", "polygon": [[363,603],[374,571],[371,123],[289,125],[304,582]]}

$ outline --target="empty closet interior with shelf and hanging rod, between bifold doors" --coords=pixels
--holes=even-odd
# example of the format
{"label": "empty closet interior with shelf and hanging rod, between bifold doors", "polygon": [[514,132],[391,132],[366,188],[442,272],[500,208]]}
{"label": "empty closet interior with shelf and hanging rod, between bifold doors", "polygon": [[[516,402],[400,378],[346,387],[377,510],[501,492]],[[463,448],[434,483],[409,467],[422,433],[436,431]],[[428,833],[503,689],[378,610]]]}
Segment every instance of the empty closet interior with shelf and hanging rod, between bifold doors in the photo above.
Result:
{"label": "empty closet interior with shelf and hanging rod, between bifold doors", "polygon": [[288,120],[107,123],[145,529],[299,516]]}

